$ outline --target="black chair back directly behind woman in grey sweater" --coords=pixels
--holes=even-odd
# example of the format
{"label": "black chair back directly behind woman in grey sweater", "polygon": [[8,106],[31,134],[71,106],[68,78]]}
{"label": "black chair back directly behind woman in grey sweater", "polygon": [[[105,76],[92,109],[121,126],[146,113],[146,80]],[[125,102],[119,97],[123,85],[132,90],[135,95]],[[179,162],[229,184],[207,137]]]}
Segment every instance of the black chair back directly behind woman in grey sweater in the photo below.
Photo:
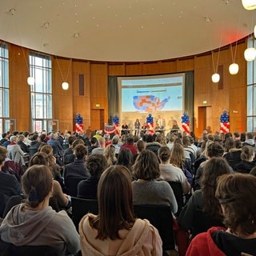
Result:
{"label": "black chair back directly behind woman in grey sweater", "polygon": [[137,218],[146,218],[158,229],[162,238],[162,250],[174,250],[174,219],[170,206],[134,205],[134,214]]}

